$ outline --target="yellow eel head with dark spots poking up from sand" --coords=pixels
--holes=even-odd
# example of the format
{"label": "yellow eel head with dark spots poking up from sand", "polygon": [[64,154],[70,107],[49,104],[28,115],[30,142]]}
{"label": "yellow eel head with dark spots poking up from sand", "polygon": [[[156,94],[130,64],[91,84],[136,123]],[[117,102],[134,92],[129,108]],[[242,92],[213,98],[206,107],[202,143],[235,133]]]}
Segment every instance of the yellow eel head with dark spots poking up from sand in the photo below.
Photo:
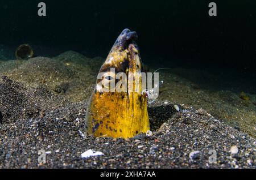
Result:
{"label": "yellow eel head with dark spots poking up from sand", "polygon": [[[86,113],[87,135],[131,138],[150,129],[147,95],[142,91],[142,80],[139,79],[139,83],[134,81],[142,72],[141,57],[135,40],[137,33],[124,29],[101,66]],[[120,83],[125,77],[118,76],[119,72],[127,75],[127,83]],[[135,74],[134,78],[130,78],[130,74]],[[106,87],[100,84],[102,82],[108,84],[106,89],[109,92],[102,92]],[[114,90],[110,86],[113,83]],[[117,87],[127,91],[117,92]],[[129,91],[136,88],[138,91]]]}

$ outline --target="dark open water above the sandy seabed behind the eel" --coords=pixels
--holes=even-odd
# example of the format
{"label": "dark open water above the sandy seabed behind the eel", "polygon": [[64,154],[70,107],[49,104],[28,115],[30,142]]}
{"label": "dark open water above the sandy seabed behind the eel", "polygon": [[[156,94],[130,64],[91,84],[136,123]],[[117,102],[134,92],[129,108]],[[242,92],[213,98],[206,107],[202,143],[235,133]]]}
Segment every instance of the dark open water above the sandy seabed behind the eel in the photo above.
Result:
{"label": "dark open water above the sandy seabed behind the eel", "polygon": [[[255,74],[256,1],[214,0],[217,17],[210,17],[212,1],[1,0],[0,44],[45,47],[38,55],[76,50],[106,57],[129,28],[138,33],[144,59]],[[46,3],[46,17],[38,16],[39,2]]]}

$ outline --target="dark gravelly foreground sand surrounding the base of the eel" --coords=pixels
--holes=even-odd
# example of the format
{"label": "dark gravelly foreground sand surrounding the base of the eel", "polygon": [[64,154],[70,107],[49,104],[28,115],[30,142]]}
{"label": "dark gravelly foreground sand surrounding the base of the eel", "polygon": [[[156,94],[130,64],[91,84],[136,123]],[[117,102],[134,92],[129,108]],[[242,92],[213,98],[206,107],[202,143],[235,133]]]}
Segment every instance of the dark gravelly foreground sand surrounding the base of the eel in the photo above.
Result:
{"label": "dark gravelly foreground sand surrounding the base of the eel", "polygon": [[[126,140],[82,137],[86,101],[72,102],[6,76],[0,80],[0,108],[0,168],[256,168],[254,138],[204,110],[180,106],[177,112],[168,101],[148,107],[151,136]],[[40,149],[47,152],[46,164],[38,162]],[[88,149],[104,156],[82,158]],[[212,149],[217,161],[210,164]]]}

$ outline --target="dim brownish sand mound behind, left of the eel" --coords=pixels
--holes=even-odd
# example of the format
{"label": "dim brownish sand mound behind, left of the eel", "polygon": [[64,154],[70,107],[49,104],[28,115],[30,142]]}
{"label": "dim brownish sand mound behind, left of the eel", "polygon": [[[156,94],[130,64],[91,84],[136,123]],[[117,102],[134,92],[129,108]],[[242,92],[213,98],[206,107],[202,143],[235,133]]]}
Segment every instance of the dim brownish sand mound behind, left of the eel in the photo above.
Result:
{"label": "dim brownish sand mound behind, left of the eel", "polygon": [[[96,72],[93,72],[82,55],[64,53],[67,54],[67,59],[71,60],[59,55],[56,59],[35,57],[28,61],[6,61],[0,64],[0,73],[30,87],[43,86],[72,101],[85,100],[93,91]],[[84,63],[79,65],[80,62]]]}

